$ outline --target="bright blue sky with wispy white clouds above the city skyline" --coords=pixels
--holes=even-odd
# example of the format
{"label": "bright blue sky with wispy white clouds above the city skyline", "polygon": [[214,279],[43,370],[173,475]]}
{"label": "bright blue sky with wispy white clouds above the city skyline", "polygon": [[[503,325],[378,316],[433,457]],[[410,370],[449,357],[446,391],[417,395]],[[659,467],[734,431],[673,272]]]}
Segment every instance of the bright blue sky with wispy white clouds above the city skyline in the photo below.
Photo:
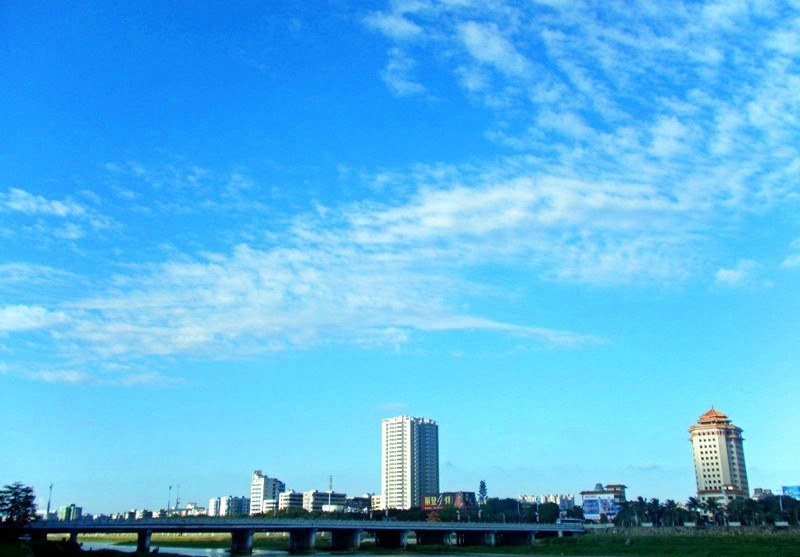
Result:
{"label": "bright blue sky with wispy white clouds above the city skyline", "polygon": [[0,481],[800,483],[797,3],[296,4],[3,3]]}

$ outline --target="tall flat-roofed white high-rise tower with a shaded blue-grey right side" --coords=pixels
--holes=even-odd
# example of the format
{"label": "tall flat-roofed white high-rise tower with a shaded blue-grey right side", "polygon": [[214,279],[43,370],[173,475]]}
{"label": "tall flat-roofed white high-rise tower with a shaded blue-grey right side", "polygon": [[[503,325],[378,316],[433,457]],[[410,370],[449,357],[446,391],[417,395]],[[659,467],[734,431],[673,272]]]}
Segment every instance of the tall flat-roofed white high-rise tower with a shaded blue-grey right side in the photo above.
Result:
{"label": "tall flat-roofed white high-rise tower with a shaded blue-grey right side", "polygon": [[398,416],[381,422],[381,508],[419,507],[439,493],[439,424]]}

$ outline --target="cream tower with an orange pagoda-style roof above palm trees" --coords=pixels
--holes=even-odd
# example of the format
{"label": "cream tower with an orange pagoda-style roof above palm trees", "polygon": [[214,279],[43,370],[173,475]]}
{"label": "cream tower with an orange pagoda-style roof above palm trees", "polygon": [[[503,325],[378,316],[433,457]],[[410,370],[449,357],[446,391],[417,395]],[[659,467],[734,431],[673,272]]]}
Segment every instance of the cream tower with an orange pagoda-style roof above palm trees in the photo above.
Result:
{"label": "cream tower with an orange pagoda-style roof above palm trees", "polygon": [[728,416],[711,410],[689,428],[697,497],[700,501],[747,499],[750,487],[742,448],[742,429]]}

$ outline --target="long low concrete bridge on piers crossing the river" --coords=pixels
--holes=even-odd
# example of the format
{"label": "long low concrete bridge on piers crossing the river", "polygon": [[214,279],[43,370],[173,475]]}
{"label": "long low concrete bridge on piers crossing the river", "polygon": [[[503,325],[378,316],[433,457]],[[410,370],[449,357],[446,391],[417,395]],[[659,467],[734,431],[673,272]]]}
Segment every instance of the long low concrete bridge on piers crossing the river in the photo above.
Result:
{"label": "long low concrete bridge on piers crossing the river", "polygon": [[375,546],[404,549],[408,535],[416,534],[420,545],[500,546],[532,544],[537,538],[584,534],[582,524],[501,524],[495,522],[397,522],[390,520],[305,520],[280,518],[162,518],[144,520],[42,521],[30,525],[34,539],[47,534],[66,534],[77,541],[78,534],[135,533],[136,550],[150,551],[154,533],[231,534],[231,553],[253,551],[256,532],[289,534],[290,553],[314,551],[317,532],[330,532],[333,551],[355,551],[364,533],[375,537]]}

